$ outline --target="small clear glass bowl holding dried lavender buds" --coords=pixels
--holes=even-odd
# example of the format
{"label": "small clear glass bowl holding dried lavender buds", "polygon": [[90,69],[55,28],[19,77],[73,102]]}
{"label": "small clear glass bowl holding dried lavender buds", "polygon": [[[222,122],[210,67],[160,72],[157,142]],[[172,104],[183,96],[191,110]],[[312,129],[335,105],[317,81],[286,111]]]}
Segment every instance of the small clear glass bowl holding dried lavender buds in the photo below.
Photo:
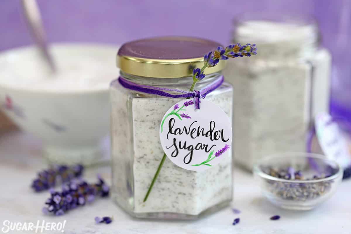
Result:
{"label": "small clear glass bowl holding dried lavender buds", "polygon": [[[289,167],[293,172],[279,173],[281,178],[271,175]],[[343,177],[343,169],[336,161],[311,153],[267,156],[254,166],[253,172],[263,195],[274,205],[291,210],[310,210],[327,200]],[[300,175],[305,179],[288,179]]]}

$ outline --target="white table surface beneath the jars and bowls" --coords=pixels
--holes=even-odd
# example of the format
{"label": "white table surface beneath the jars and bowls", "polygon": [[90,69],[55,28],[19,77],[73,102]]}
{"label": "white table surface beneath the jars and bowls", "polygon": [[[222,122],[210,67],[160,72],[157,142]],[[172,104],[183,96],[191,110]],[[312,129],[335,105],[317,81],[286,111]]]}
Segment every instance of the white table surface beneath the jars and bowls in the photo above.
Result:
{"label": "white table surface beneath the jars and bowls", "polygon": [[[64,233],[98,234],[350,234],[351,233],[351,180],[344,181],[336,194],[314,210],[297,212],[277,208],[266,201],[254,185],[252,175],[236,169],[234,173],[234,200],[232,207],[241,210],[234,214],[223,209],[197,221],[154,221],[131,218],[110,198],[98,199],[69,211],[64,216],[46,216],[41,213],[48,192],[34,193],[29,185],[35,174],[45,168],[41,157],[41,143],[32,136],[13,132],[0,136],[0,233],[3,222],[62,222],[67,220]],[[87,169],[88,181],[95,181],[101,173],[109,182],[109,167]],[[280,220],[271,221],[272,215]],[[109,224],[95,224],[95,216],[113,216]],[[234,218],[240,223],[232,225]],[[33,233],[10,231],[9,233]],[[39,233],[39,232],[38,232]],[[44,231],[42,233],[55,233]],[[61,232],[60,232],[61,233]]]}

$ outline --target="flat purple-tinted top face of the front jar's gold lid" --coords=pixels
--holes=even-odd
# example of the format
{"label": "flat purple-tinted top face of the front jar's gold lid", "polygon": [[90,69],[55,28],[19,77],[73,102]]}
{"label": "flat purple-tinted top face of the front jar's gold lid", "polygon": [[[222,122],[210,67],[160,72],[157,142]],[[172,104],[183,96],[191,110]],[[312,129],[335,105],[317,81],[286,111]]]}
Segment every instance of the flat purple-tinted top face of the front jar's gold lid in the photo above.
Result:
{"label": "flat purple-tinted top face of the front jar's gold lid", "polygon": [[215,41],[167,36],[127,42],[118,51],[118,56],[144,59],[195,59],[214,51],[220,44]]}

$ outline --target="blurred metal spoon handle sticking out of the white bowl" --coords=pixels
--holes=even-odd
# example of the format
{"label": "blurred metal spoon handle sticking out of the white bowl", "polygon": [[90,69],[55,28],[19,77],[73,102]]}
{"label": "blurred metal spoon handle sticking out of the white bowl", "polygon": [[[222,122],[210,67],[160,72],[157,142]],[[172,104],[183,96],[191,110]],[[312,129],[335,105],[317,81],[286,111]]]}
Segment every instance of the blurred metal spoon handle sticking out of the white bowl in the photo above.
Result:
{"label": "blurred metal spoon handle sticking out of the white bowl", "polygon": [[31,34],[35,40],[35,43],[39,47],[42,55],[45,57],[52,72],[56,72],[51,54],[48,51],[46,36],[44,27],[41,20],[39,7],[36,0],[22,0],[22,7],[24,15],[31,31]]}

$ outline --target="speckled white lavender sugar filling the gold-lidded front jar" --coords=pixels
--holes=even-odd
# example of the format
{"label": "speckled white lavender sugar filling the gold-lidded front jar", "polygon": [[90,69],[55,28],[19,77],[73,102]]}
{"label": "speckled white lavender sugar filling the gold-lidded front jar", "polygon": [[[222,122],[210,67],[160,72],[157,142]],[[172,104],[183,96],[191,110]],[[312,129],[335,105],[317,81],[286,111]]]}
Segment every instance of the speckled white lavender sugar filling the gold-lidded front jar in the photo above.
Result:
{"label": "speckled white lavender sugar filling the gold-lidded front jar", "polygon": [[[231,118],[232,91],[231,88],[226,89],[218,91],[223,93],[209,94],[206,100],[219,105]],[[198,215],[232,198],[232,157],[229,151],[218,165],[202,172],[185,170],[166,158],[148,200],[143,202],[164,154],[159,139],[160,121],[168,108],[178,101],[143,96],[129,99],[118,89],[111,90],[113,194],[115,200],[131,212]],[[119,123],[129,117],[132,122]],[[122,157],[130,157],[131,160]],[[125,180],[133,183],[132,200],[128,196],[133,194],[125,192]]]}

